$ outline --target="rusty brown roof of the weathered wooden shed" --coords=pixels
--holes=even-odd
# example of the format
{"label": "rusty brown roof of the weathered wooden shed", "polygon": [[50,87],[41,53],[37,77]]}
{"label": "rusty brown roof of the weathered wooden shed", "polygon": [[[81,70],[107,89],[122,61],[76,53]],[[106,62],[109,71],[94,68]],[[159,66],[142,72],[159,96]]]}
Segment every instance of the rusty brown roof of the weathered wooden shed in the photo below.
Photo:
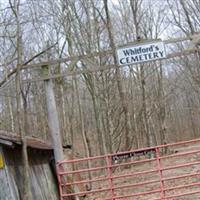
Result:
{"label": "rusty brown roof of the weathered wooden shed", "polygon": [[[52,150],[52,144],[37,137],[26,136],[27,146],[34,149]],[[0,130],[0,144],[14,145],[22,144],[21,138],[16,133]]]}

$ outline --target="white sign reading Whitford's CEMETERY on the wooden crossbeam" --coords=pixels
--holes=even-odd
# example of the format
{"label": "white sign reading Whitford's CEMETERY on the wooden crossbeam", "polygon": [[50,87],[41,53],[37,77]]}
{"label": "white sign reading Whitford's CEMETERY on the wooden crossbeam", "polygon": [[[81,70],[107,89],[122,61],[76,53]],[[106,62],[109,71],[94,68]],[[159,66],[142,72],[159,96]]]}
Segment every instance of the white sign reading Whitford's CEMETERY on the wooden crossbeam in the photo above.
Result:
{"label": "white sign reading Whitford's CEMETERY on the wooden crossbeam", "polygon": [[165,46],[162,41],[138,44],[117,49],[119,65],[130,65],[146,61],[158,60],[166,57]]}

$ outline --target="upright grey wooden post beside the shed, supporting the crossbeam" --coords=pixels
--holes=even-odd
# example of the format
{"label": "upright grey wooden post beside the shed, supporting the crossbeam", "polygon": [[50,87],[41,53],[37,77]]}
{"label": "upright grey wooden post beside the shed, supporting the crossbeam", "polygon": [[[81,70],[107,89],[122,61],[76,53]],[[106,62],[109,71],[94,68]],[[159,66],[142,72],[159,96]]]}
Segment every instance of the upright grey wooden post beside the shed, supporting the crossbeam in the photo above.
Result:
{"label": "upright grey wooden post beside the shed, supporting the crossbeam", "polygon": [[[48,66],[42,66],[43,75],[48,74]],[[60,125],[58,119],[58,112],[56,108],[55,95],[53,91],[53,82],[51,79],[45,80],[45,96],[47,103],[47,114],[48,114],[48,124],[50,128],[50,134],[53,142],[53,150],[55,161],[61,161],[64,158],[62,139],[60,134]]]}

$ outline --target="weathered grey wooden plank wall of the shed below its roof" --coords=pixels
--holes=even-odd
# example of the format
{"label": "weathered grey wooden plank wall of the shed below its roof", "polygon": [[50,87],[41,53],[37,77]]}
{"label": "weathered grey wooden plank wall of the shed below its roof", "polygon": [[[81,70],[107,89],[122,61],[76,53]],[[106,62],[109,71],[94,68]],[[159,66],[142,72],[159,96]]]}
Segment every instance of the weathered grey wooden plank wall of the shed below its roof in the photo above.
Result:
{"label": "weathered grey wooden plank wall of the shed below its roof", "polygon": [[[22,160],[20,148],[2,148],[5,167],[0,169],[0,200],[21,200],[22,194]],[[29,175],[33,199],[57,200],[57,182],[51,171],[50,153],[29,151]]]}

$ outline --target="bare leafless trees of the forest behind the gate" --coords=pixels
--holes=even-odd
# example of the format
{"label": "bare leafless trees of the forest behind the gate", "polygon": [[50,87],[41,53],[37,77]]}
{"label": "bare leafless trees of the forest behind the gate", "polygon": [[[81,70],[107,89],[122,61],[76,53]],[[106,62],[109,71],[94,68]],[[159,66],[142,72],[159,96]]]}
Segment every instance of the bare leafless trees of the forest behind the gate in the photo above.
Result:
{"label": "bare leafless trees of the forest behind the gate", "polygon": [[199,51],[123,67],[115,51],[199,30],[199,0],[1,0],[0,129],[50,141],[51,80],[62,144],[82,157],[197,138]]}

